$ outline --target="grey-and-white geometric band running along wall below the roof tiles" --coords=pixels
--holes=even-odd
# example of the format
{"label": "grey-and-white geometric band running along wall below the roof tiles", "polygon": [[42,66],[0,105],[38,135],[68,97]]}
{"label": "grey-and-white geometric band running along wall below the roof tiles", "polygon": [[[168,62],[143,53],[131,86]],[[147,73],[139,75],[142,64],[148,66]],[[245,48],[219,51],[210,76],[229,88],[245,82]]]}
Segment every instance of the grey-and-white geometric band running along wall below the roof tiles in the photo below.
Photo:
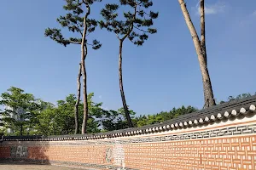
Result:
{"label": "grey-and-white geometric band running along wall below the roof tiles", "polygon": [[[229,137],[233,135],[243,135],[243,134],[255,134],[256,133],[256,123],[249,125],[233,126],[233,127],[222,127],[214,128],[206,131],[195,131],[193,133],[180,133],[180,134],[170,134],[146,138],[136,138],[133,139],[112,139],[112,140],[91,140],[91,141],[70,141],[70,142],[48,142],[48,141],[23,141],[22,145],[98,145],[98,144],[138,144],[138,143],[155,143],[155,142],[166,142],[166,141],[177,141],[186,139],[209,139],[217,137]],[[16,142],[3,142],[3,145],[16,145]],[[20,143],[21,144],[21,143]]]}

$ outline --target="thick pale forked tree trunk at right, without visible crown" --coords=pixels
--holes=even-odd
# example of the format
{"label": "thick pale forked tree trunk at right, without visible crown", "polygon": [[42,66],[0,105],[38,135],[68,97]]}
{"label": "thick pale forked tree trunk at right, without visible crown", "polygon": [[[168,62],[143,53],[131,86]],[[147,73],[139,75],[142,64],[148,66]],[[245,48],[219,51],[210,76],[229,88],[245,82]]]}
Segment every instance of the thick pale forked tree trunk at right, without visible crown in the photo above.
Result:
{"label": "thick pale forked tree trunk at right, without visible crown", "polygon": [[[194,45],[195,45],[195,51],[196,54],[198,56],[198,60],[199,60],[199,65],[200,65],[200,69],[201,69],[201,76],[202,76],[202,82],[203,82],[203,88],[204,88],[204,99],[205,99],[205,107],[210,107],[212,105],[216,105],[215,104],[215,100],[213,97],[213,92],[212,92],[212,83],[211,83],[211,79],[210,79],[210,75],[207,69],[207,55],[206,55],[206,51],[204,54],[204,50],[203,48],[205,47],[201,47],[201,41],[199,40],[199,37],[195,31],[195,26],[193,25],[192,20],[190,19],[189,16],[189,11],[186,8],[186,4],[184,3],[183,0],[178,0],[181,10],[183,12],[183,16],[184,19],[186,21],[186,24],[189,28],[191,37],[193,39]],[[204,2],[202,2],[203,4]],[[202,11],[202,9],[201,9]],[[204,13],[204,11],[203,11]],[[203,17],[201,17],[204,22],[204,14]],[[203,24],[204,27],[204,24]],[[204,29],[203,29],[204,30]],[[203,38],[205,38],[205,33],[203,33]],[[203,40],[203,42],[205,41],[205,39]],[[205,46],[205,43],[204,43]]]}

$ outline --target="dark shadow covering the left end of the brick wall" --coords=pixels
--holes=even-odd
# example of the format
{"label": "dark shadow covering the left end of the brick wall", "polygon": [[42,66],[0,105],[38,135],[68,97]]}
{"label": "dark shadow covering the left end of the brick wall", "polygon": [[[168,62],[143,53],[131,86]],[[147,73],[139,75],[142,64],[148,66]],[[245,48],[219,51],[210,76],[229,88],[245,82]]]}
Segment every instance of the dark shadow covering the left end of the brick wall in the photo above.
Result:
{"label": "dark shadow covering the left end of the brick wall", "polygon": [[49,141],[44,136],[3,136],[0,163],[50,165]]}

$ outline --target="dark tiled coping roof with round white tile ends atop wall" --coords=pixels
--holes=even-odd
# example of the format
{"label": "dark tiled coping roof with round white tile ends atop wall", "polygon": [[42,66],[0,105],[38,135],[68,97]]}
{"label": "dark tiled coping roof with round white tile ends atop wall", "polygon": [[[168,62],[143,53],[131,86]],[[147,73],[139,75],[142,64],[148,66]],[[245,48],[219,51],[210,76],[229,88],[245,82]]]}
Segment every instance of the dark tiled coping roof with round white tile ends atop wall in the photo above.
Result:
{"label": "dark tiled coping roof with round white tile ends atop wall", "polygon": [[122,130],[115,130],[106,133],[95,134],[77,134],[77,135],[61,135],[61,136],[6,136],[3,140],[88,140],[88,139],[108,139],[121,136],[132,136],[146,133],[157,133],[169,131],[177,128],[185,128],[189,126],[198,126],[215,122],[221,119],[228,119],[231,116],[246,115],[249,112],[255,113],[256,95],[245,99],[235,99],[221,105],[215,105],[201,111],[195,111],[183,116],[178,116],[172,120],[161,122],[143,127],[132,127]]}

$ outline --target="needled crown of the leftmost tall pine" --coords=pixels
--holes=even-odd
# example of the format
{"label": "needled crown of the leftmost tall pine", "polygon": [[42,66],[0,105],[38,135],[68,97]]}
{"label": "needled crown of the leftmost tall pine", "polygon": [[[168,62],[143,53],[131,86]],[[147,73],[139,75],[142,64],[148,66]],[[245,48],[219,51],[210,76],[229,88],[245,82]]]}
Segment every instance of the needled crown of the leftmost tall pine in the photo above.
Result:
{"label": "needled crown of the leftmost tall pine", "polygon": [[[50,37],[55,42],[64,45],[65,47],[68,44],[81,44],[84,27],[86,28],[87,35],[96,30],[97,21],[94,19],[88,19],[87,16],[90,14],[90,10],[88,10],[88,6],[95,2],[101,2],[101,0],[65,0],[66,5],[63,8],[67,11],[66,15],[61,15],[57,22],[61,25],[62,28],[67,28],[68,31],[73,32],[74,37],[64,37],[61,33],[61,29],[57,28],[47,28],[44,31],[45,37]],[[87,8],[86,13],[84,14],[84,7]],[[84,20],[86,16],[86,20]],[[85,25],[84,26],[84,22]],[[102,44],[98,42],[96,39],[92,41],[92,43],[88,43],[86,40],[86,45],[90,45],[93,49],[98,49],[102,47]]]}

